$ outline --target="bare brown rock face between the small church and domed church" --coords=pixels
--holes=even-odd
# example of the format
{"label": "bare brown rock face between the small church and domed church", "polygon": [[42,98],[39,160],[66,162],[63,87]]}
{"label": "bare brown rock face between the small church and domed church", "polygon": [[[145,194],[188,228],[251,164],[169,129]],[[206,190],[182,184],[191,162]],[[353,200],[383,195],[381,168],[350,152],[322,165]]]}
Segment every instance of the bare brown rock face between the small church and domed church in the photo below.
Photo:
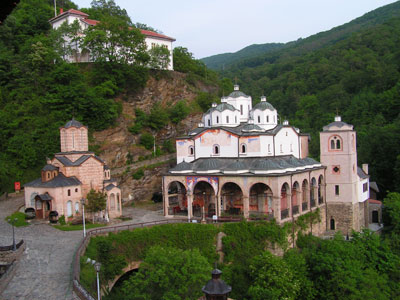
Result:
{"label": "bare brown rock face between the small church and domed church", "polygon": [[[135,109],[139,108],[148,113],[156,103],[167,108],[180,100],[185,100],[188,105],[192,105],[199,91],[216,92],[217,88],[200,82],[190,85],[186,82],[186,74],[178,72],[153,74],[141,92],[134,95],[123,94],[116,99],[122,105],[122,113],[115,127],[93,133],[90,145],[110,166],[112,176],[118,180],[122,188],[124,202],[147,200],[151,198],[153,192],[161,191],[161,174],[166,172],[171,164],[171,156],[163,157],[165,159],[163,165],[160,165],[163,158],[156,162],[157,166],[154,166],[154,160],[132,164],[152,154],[151,151],[138,145],[139,134],[133,135],[129,132],[129,128],[134,124]],[[187,133],[196,127],[200,120],[201,113],[198,112],[190,114],[178,125],[168,124],[156,133],[156,143],[161,145],[164,140],[175,139]],[[133,179],[132,175],[140,167],[143,168],[144,176],[138,180]]]}

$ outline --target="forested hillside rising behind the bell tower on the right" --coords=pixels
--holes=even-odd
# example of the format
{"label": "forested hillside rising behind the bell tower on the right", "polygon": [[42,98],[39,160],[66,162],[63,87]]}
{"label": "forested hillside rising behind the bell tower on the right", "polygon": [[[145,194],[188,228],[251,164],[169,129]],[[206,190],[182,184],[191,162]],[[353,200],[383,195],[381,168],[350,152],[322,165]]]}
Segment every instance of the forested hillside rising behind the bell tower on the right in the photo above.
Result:
{"label": "forested hillside rising behind the bell tower on the right", "polygon": [[[379,23],[386,18],[388,7],[394,14],[400,3],[371,12],[374,18],[370,19]],[[253,99],[266,94],[281,120],[288,118],[303,132],[310,132],[311,154],[316,158],[318,132],[338,112],[357,130],[359,164],[370,164],[371,179],[378,181],[383,191],[398,191],[399,43],[400,18],[394,17],[318,50],[303,49],[299,55],[278,50],[274,57],[243,60],[224,75],[238,77]]]}

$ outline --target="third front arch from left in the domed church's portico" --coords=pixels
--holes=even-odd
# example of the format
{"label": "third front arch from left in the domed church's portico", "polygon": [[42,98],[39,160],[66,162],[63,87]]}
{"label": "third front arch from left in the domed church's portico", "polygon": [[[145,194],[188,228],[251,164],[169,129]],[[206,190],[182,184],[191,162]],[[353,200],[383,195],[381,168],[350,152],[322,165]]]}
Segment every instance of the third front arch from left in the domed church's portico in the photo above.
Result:
{"label": "third front arch from left in the domed church's portico", "polygon": [[227,182],[221,189],[221,215],[243,214],[243,192],[233,182]]}

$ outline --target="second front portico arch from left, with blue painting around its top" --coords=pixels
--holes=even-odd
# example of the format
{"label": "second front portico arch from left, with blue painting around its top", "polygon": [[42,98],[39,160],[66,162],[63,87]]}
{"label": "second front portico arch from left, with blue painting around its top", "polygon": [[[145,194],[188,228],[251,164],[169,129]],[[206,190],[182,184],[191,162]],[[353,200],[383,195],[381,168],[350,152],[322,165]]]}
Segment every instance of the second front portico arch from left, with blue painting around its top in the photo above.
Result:
{"label": "second front portico arch from left, with blue painting around its top", "polygon": [[215,192],[211,184],[200,181],[193,190],[193,216],[212,217],[216,214]]}

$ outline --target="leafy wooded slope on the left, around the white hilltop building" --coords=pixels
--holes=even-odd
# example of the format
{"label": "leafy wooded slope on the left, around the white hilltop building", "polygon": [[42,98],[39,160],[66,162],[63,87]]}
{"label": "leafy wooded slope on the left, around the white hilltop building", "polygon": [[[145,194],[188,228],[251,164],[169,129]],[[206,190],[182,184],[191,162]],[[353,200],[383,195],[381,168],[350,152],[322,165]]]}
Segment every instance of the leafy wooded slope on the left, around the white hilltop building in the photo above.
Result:
{"label": "leafy wooded slope on the left, around the white hilltop building", "polygon": [[[59,127],[72,117],[89,126],[90,134],[116,126],[124,99],[139,93],[149,76],[168,78],[167,71],[146,67],[152,64],[152,56],[144,50],[144,36],[132,29],[134,23],[113,0],[93,1],[86,10],[102,20],[101,26],[90,28],[87,38],[79,41],[99,49],[96,61],[66,63],[62,57],[73,49],[65,47],[60,36],[76,36],[77,28],[71,24],[52,30],[48,20],[54,16],[53,4],[52,0],[21,0],[0,26],[0,194],[11,191],[14,181],[24,184],[38,177],[46,157],[60,149]],[[64,11],[77,8],[70,1],[63,1],[63,7]],[[99,43],[105,41],[96,37],[106,36],[105,32],[112,33],[116,47],[130,42],[134,64],[123,61],[125,57],[101,52],[106,49]],[[219,82],[217,75],[194,60],[186,48],[175,48],[174,62],[176,71],[187,74],[186,82],[195,93],[198,81],[213,86]],[[211,101],[209,96],[200,100]],[[148,122],[139,118],[135,124],[140,123],[140,127],[132,134],[152,137],[149,131],[154,134],[169,124],[176,126],[188,114],[184,101],[168,107],[154,103],[150,110],[162,114]],[[130,116],[132,125],[134,118]]]}

